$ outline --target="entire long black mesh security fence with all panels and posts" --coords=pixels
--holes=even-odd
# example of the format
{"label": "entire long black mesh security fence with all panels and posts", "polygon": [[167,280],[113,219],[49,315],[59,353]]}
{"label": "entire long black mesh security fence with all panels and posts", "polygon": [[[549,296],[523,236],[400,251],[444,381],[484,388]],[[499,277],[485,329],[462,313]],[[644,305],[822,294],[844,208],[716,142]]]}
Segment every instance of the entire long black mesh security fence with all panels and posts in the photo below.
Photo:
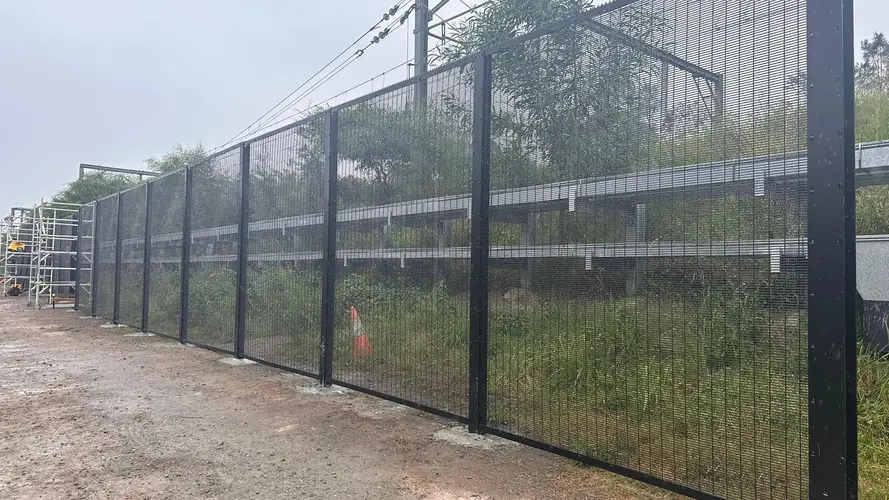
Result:
{"label": "entire long black mesh security fence with all panels and posts", "polygon": [[813,5],[614,1],[99,200],[78,304],[692,497],[854,494],[889,143]]}

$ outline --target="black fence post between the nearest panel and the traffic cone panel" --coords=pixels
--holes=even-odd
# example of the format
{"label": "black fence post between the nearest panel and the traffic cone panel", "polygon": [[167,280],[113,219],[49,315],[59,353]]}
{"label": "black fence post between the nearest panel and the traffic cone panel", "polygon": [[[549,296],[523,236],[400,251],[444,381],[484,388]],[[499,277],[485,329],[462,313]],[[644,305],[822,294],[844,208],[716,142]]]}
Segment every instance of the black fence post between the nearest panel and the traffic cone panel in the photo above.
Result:
{"label": "black fence post between the nearest panel and the traffic cone panel", "polygon": [[488,248],[491,193],[492,57],[482,53],[473,70],[472,249],[469,284],[469,432],[488,423]]}

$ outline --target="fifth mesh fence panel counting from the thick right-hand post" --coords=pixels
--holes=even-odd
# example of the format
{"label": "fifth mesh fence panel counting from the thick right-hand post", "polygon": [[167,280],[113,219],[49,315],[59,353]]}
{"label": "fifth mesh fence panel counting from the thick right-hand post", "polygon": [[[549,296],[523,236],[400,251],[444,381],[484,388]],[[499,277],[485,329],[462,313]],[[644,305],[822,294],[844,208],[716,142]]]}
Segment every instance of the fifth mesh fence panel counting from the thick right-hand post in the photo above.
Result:
{"label": "fifth mesh fence panel counting from the thick right-hand post", "polygon": [[179,336],[185,172],[151,181],[148,330]]}

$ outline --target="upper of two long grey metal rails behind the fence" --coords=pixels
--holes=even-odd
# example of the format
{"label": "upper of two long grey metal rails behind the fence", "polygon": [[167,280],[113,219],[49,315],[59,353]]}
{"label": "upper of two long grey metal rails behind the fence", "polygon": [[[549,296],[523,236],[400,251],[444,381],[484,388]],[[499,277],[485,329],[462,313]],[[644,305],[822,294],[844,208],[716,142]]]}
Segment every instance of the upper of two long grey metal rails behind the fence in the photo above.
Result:
{"label": "upper of two long grey metal rails behind the fence", "polygon": [[[772,167],[769,167],[772,165]],[[856,145],[856,185],[889,184],[889,142],[861,143]],[[795,173],[788,172],[795,171]],[[767,186],[776,189],[787,183],[806,183],[806,158],[801,153],[772,156],[766,158],[748,158],[741,160],[724,160],[704,165],[663,169],[662,171],[645,172],[617,176],[611,179],[576,179],[555,184],[546,184],[526,188],[525,190],[502,190],[491,193],[492,207],[509,210],[511,206],[523,206],[532,209],[539,204],[539,211],[556,211],[559,206],[574,206],[585,201],[607,203],[609,197],[638,199],[646,197],[669,196],[671,191],[688,190],[691,196],[705,197],[722,189],[746,191],[756,196],[765,196]],[[704,187],[695,194],[694,188]],[[409,202],[393,203],[382,206],[359,207],[342,210],[337,214],[337,221],[369,223],[412,217],[448,217],[468,219],[470,216],[471,196],[448,196],[434,199],[417,199]],[[504,212],[505,213],[505,212]],[[504,215],[506,216],[506,215]],[[409,221],[405,223],[409,224]],[[306,226],[323,225],[323,214],[309,213],[300,216],[262,219],[250,222],[250,231],[287,231]],[[195,231],[194,238],[219,238],[236,235],[237,225],[218,226],[203,231]],[[180,233],[170,232],[158,234],[157,242],[177,241],[182,238]],[[113,244],[113,243],[109,243]],[[141,240],[125,240],[124,245],[139,245]]]}

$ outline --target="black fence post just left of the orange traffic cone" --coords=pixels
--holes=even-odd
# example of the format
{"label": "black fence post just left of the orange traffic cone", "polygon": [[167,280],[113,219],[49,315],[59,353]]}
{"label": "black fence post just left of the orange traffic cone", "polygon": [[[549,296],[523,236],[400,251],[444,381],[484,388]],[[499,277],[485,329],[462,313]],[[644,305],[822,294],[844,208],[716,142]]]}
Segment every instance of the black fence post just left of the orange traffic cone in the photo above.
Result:
{"label": "black fence post just left of the orange traffic cone", "polygon": [[322,385],[333,379],[333,329],[336,322],[336,202],[339,113],[331,111],[324,123],[324,248],[321,282],[321,366]]}

